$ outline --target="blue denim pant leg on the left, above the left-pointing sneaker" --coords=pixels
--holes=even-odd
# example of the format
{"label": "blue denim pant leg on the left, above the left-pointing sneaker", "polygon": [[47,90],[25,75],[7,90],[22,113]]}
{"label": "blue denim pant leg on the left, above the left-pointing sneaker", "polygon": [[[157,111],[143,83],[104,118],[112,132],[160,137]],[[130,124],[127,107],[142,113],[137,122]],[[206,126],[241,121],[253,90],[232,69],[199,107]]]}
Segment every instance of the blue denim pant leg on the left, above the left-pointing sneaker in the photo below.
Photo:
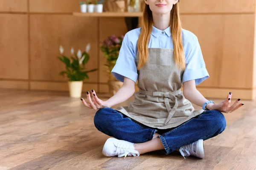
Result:
{"label": "blue denim pant leg on the left, above the left-pointing sneaker", "polygon": [[108,136],[133,143],[151,140],[157,131],[134,122],[112,108],[99,109],[94,116],[94,125]]}

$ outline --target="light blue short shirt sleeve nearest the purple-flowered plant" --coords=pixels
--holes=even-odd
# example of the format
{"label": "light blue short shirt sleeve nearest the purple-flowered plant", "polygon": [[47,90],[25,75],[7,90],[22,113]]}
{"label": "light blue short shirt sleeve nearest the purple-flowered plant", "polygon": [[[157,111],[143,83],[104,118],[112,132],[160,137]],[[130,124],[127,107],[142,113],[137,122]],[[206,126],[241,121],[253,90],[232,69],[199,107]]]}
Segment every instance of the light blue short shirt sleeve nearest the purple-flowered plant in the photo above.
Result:
{"label": "light blue short shirt sleeve nearest the purple-flowered plant", "polygon": [[136,82],[138,74],[135,59],[133,46],[129,42],[127,34],[125,34],[116,64],[111,71],[113,76],[121,82],[124,82],[124,77]]}

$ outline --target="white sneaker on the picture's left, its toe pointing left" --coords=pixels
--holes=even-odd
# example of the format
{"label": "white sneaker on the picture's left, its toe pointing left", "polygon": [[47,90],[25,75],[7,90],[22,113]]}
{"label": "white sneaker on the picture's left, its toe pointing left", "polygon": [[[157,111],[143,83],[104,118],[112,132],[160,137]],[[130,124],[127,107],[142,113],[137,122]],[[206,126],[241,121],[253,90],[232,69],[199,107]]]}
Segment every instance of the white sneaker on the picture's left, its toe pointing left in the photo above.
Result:
{"label": "white sneaker on the picture's left, its toe pointing left", "polygon": [[109,157],[140,156],[140,153],[137,150],[134,150],[134,143],[115,138],[108,138],[104,144],[102,153],[103,155]]}

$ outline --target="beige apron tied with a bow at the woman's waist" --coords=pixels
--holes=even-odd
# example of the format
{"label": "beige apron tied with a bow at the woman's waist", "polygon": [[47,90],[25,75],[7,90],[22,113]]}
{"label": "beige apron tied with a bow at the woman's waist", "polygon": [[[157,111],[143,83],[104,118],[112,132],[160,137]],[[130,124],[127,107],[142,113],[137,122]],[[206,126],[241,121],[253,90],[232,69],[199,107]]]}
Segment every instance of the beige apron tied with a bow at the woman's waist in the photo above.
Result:
{"label": "beige apron tied with a bow at the woman's waist", "polygon": [[134,94],[134,102],[116,111],[158,129],[177,127],[204,112],[195,110],[180,90],[184,71],[175,65],[173,49],[148,48],[148,54],[148,62],[138,70],[139,92]]}

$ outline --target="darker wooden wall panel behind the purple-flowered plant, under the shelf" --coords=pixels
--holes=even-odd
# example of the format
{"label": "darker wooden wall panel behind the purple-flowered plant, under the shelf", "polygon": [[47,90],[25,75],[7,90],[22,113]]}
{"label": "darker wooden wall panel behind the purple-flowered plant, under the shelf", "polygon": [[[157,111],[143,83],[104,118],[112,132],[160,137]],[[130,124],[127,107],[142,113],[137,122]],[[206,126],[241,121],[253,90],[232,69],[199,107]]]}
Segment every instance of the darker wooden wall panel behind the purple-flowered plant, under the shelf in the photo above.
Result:
{"label": "darker wooden wall panel behind the purple-flowered plant, under the shelf", "polygon": [[[106,26],[108,26],[106,28]],[[125,19],[122,17],[102,17],[99,21],[99,41],[103,42],[108,36],[115,34],[116,36],[121,36],[122,34],[125,35],[127,32],[127,28],[125,25]],[[99,81],[100,82],[108,82],[108,77],[105,70],[106,59],[102,52],[100,52],[100,59],[99,59]]]}

